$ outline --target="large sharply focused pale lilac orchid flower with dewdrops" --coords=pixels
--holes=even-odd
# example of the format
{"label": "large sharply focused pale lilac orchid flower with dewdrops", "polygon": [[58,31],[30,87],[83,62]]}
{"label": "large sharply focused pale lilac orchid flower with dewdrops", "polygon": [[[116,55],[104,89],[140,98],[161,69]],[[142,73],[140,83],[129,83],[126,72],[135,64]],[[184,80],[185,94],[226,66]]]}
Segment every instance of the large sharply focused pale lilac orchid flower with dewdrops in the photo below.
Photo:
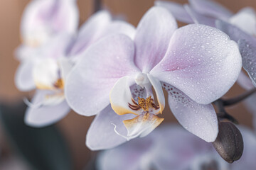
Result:
{"label": "large sharply focused pale lilac orchid flower with dewdrops", "polygon": [[164,120],[162,88],[179,123],[213,142],[218,120],[210,103],[230,89],[240,69],[238,47],[228,35],[198,24],[177,29],[169,11],[153,7],[134,40],[116,34],[92,45],[70,72],[65,94],[75,112],[97,115],[87,132],[90,149],[114,147],[154,130]]}

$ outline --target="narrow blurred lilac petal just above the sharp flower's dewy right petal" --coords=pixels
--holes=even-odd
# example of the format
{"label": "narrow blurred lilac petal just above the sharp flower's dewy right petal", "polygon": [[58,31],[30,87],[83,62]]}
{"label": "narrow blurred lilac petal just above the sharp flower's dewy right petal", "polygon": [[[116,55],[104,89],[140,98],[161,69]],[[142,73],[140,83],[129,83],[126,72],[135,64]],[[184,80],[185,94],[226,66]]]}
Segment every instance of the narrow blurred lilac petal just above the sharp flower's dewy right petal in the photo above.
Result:
{"label": "narrow blurred lilac petal just above the sharp flower's dewy right petal", "polygon": [[206,26],[215,27],[215,18],[212,18],[210,16],[204,16],[203,14],[198,13],[188,5],[185,5],[184,8],[191,16],[191,18],[193,18],[194,23],[201,23]]}

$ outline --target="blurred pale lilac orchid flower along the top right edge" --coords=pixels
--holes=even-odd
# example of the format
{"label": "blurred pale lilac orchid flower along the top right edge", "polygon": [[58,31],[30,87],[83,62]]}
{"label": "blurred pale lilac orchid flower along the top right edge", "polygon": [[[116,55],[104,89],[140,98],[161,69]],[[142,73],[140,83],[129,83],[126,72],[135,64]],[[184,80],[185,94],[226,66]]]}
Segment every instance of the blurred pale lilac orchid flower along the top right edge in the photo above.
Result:
{"label": "blurred pale lilac orchid flower along the top right edge", "polygon": [[164,6],[174,14],[178,21],[184,23],[201,23],[215,27],[215,20],[220,19],[238,26],[246,33],[256,35],[256,13],[253,8],[242,8],[238,13],[232,13],[212,0],[188,0],[189,4],[182,6],[170,1],[155,1],[158,6]]}

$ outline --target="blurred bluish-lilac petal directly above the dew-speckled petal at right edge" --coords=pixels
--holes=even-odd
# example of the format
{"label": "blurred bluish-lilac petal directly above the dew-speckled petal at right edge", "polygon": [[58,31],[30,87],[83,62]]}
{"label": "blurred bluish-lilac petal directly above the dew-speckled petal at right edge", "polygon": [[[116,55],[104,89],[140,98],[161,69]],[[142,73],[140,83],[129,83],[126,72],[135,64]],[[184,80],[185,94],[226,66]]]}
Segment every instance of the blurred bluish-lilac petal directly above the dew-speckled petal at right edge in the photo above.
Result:
{"label": "blurred bluish-lilac petal directly above the dew-speckled petal at right edge", "polygon": [[230,23],[218,20],[216,21],[215,25],[216,25],[216,28],[228,34],[231,40],[235,40],[236,42],[238,42],[238,40],[240,39],[245,39],[251,42],[256,42],[256,40],[254,40],[255,38],[253,38],[251,35],[248,35],[244,31],[242,31],[240,28],[238,28],[237,26],[233,26]]}

